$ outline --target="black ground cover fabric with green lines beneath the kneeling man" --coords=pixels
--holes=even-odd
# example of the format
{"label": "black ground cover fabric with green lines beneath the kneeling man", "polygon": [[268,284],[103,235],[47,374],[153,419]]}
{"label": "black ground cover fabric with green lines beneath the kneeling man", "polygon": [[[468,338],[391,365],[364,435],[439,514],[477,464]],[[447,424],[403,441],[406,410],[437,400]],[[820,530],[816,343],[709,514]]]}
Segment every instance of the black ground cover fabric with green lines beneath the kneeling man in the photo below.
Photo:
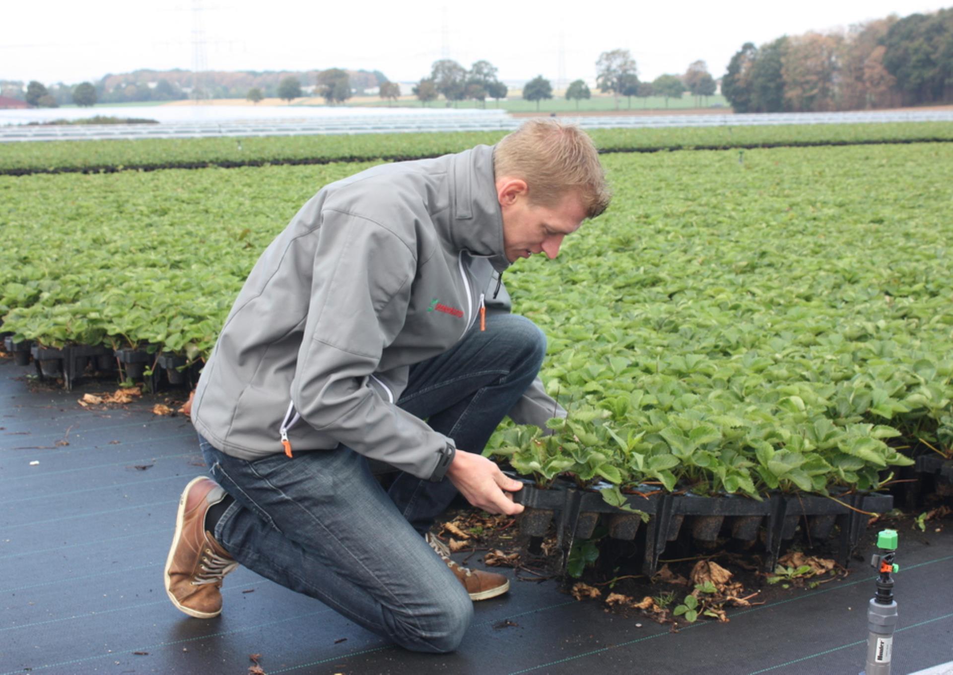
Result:
{"label": "black ground cover fabric with green lines beneath the kneeling man", "polygon": [[[514,582],[508,595],[476,605],[463,646],[444,656],[387,645],[241,568],[225,580],[221,617],[188,618],[162,586],[178,494],[204,470],[188,420],[152,414],[169,394],[84,409],[84,392],[112,384],[67,393],[31,386],[30,372],[0,360],[0,675],[244,675],[250,654],[270,675],[854,675],[863,667],[874,585],[873,570],[857,562],[844,581],[678,633],[578,603],[554,581]],[[898,674],[953,659],[953,533],[900,534]],[[868,531],[864,555],[875,537]]]}

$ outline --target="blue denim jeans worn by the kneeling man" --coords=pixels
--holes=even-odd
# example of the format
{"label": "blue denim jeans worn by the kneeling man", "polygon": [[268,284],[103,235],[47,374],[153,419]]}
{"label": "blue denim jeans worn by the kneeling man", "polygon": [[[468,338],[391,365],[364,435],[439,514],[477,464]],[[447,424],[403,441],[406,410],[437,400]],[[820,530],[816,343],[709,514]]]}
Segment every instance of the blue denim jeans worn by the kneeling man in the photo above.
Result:
{"label": "blue denim jeans worn by the kneeling man", "polygon": [[[486,324],[412,367],[398,401],[473,452],[533,382],[545,353],[545,338],[528,319],[491,314]],[[213,535],[240,564],[397,645],[456,649],[473,605],[419,536],[456,495],[450,481],[401,474],[387,493],[348,447],[249,462],[201,437],[199,446],[213,478],[234,497]]]}

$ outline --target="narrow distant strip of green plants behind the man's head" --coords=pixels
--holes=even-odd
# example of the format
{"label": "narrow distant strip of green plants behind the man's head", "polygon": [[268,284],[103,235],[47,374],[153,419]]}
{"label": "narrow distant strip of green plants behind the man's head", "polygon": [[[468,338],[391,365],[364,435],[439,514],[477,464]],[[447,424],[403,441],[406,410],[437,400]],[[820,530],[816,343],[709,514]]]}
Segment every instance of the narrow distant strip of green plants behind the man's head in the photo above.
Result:
{"label": "narrow distant strip of green plants behind the man's head", "polygon": [[[414,159],[457,152],[478,143],[493,144],[505,133],[500,130],[0,143],[0,173]],[[590,135],[604,151],[751,148],[953,141],[953,123],[593,129]]]}

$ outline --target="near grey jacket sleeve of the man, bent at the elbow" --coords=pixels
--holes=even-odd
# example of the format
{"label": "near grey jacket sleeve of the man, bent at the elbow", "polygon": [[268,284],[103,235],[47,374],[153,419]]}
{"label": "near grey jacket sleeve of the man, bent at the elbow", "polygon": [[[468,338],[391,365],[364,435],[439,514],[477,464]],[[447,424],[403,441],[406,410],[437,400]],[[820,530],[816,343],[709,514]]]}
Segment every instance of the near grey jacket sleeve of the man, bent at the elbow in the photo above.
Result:
{"label": "near grey jacket sleeve of the man, bent at the elbow", "polygon": [[453,441],[370,384],[383,349],[403,326],[416,251],[365,218],[331,209],[321,218],[294,408],[355,452],[439,480],[453,460]]}

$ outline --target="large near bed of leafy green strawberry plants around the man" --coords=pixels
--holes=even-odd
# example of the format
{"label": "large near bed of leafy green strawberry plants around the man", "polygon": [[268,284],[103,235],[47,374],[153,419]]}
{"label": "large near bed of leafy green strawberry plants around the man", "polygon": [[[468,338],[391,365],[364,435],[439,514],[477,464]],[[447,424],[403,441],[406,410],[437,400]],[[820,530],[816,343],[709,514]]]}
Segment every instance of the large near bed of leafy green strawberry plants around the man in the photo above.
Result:
{"label": "large near bed of leafy green strawberry plants around the man", "polygon": [[[609,210],[505,275],[570,426],[492,450],[540,483],[760,496],[876,487],[898,448],[953,444],[953,145],[603,161]],[[2,329],[200,359],[260,251],[366,166],[2,176]]]}

